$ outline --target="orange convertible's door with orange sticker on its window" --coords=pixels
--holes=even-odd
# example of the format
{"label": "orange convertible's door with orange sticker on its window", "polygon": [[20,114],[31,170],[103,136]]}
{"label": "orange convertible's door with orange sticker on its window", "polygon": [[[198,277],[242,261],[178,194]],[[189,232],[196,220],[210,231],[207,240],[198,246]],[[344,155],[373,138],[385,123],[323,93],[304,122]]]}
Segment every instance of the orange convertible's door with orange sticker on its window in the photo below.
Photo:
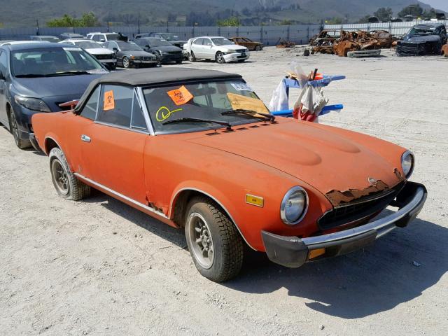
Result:
{"label": "orange convertible's door with orange sticker on its window", "polygon": [[83,175],[147,204],[143,153],[148,131],[134,87],[102,85],[97,117],[80,134]]}

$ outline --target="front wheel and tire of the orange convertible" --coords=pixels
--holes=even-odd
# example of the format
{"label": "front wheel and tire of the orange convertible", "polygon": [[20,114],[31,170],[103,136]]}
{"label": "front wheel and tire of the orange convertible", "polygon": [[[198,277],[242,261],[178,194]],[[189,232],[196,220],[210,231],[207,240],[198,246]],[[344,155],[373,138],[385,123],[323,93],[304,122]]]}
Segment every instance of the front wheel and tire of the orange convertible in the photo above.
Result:
{"label": "front wheel and tire of the orange convertible", "polygon": [[[198,231],[201,222],[205,224],[205,228],[202,227],[203,230]],[[244,242],[235,225],[218,204],[207,197],[195,197],[191,200],[187,207],[185,230],[188,249],[202,276],[211,281],[223,282],[239,274],[243,265]],[[209,237],[208,243],[207,237]],[[201,241],[198,242],[197,239]],[[204,250],[210,247],[204,245],[204,239],[205,244],[211,245],[213,251],[211,261],[197,257],[197,255],[204,257]],[[207,251],[207,257],[209,253]],[[209,262],[209,265],[204,265],[204,260],[206,263]]]}

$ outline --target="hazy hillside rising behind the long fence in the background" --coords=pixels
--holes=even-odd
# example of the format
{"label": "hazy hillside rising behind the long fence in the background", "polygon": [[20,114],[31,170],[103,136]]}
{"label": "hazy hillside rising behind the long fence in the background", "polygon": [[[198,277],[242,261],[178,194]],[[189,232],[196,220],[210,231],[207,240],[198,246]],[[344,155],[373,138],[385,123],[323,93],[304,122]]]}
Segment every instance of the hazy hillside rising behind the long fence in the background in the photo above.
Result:
{"label": "hazy hillside rising behind the long fence in the background", "polygon": [[[118,18],[131,24],[137,15],[142,22],[160,25],[171,20],[185,20],[189,13],[220,13],[248,8],[248,15],[241,18],[249,23],[262,20],[265,23],[284,19],[295,22],[320,22],[326,18],[348,18],[355,21],[371,14],[377,8],[388,6],[394,13],[403,7],[416,3],[415,0],[0,0],[0,23],[3,27],[27,27],[40,25],[64,14],[80,16],[92,11],[104,21]],[[11,6],[13,4],[13,6]],[[422,4],[424,8],[428,5]],[[173,8],[176,8],[173,10]],[[265,8],[265,10],[261,10]],[[223,13],[225,15],[225,13]],[[127,20],[123,20],[127,16]]]}

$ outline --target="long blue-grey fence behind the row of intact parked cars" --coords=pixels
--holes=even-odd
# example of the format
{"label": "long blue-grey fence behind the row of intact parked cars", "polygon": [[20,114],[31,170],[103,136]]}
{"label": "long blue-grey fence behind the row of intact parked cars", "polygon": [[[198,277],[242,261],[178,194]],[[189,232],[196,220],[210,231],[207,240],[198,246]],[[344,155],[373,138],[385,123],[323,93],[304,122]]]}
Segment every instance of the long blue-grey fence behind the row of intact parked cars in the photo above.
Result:
{"label": "long blue-grey fence behind the row of intact parked cars", "polygon": [[181,39],[187,40],[195,36],[244,36],[254,41],[261,41],[265,45],[275,45],[283,38],[297,44],[306,44],[309,39],[321,31],[321,25],[290,25],[290,26],[248,26],[248,27],[137,27],[137,26],[111,26],[111,27],[69,27],[50,28],[36,27],[30,28],[3,28],[0,29],[0,40],[26,40],[29,36],[52,35],[59,36],[64,32],[78,33],[86,35],[94,31],[115,31],[121,32],[132,38],[135,34],[146,32],[169,32],[175,33]]}

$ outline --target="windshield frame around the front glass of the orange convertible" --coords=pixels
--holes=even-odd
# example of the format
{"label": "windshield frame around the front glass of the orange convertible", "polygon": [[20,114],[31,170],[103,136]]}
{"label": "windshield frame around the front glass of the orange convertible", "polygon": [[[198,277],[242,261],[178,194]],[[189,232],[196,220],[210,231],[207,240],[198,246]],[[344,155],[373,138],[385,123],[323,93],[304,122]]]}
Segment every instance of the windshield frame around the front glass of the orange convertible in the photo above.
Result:
{"label": "windshield frame around the front glass of the orange convertible", "polygon": [[[148,116],[148,122],[149,122],[149,128],[150,128],[150,134],[151,135],[165,135],[165,134],[184,134],[184,133],[196,133],[196,132],[207,132],[211,130],[217,130],[222,128],[217,127],[216,124],[210,123],[208,126],[202,125],[200,127],[190,127],[188,130],[171,130],[171,131],[158,131],[155,130],[153,118],[151,117],[151,113],[148,109],[148,102],[146,102],[146,95],[144,94],[144,90],[146,89],[153,89],[153,88],[161,88],[161,87],[172,87],[177,85],[194,85],[194,84],[201,84],[201,83],[217,83],[217,82],[226,82],[226,81],[237,81],[241,83],[246,83],[246,80],[244,80],[241,77],[228,77],[228,78],[204,78],[204,79],[193,79],[193,80],[182,80],[182,81],[174,81],[174,82],[167,82],[162,84],[148,84],[148,85],[140,85],[139,86],[139,94],[141,95],[141,102],[143,103],[144,113]],[[253,91],[252,91],[253,92]],[[260,99],[258,97],[258,94],[253,92],[255,94],[255,97]],[[262,101],[262,99],[260,99]],[[264,102],[263,102],[264,104]],[[265,105],[266,106],[266,105]],[[267,106],[266,106],[267,109]],[[267,109],[269,111],[269,109]],[[254,124],[254,123],[265,123],[265,121],[260,120],[260,118],[253,118],[253,119],[242,119],[238,122],[232,122],[232,127],[238,127],[241,125],[248,125],[248,124]]]}

